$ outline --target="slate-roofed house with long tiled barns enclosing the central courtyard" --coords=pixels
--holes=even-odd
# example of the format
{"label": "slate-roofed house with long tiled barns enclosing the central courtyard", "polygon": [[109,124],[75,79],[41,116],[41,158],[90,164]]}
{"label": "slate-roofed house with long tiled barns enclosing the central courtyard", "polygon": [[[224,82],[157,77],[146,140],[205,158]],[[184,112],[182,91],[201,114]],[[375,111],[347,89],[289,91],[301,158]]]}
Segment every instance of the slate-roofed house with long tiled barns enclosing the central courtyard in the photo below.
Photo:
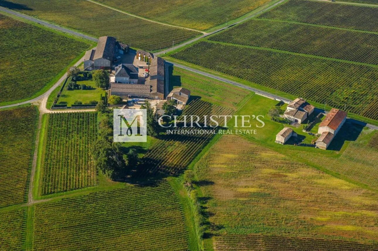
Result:
{"label": "slate-roofed house with long tiled barns enclosing the central courtyard", "polygon": [[[137,51],[132,64],[116,67],[110,95],[121,98],[164,99],[167,95],[165,61],[146,51]],[[142,75],[146,73],[147,76]],[[138,75],[138,78],[136,78]]]}

